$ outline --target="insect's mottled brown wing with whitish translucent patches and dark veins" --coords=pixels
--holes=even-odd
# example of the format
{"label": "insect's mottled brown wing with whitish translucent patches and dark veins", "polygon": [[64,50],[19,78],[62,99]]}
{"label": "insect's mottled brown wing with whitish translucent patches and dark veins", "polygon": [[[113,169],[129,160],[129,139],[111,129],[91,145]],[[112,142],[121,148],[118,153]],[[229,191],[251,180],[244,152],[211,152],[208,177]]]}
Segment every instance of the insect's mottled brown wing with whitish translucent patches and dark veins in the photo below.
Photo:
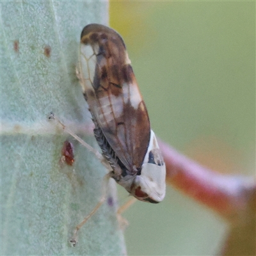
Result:
{"label": "insect's mottled brown wing with whitish translucent patches and dark veins", "polygon": [[113,29],[90,24],[82,31],[80,51],[79,78],[93,118],[135,174],[147,152],[150,124],[125,44]]}

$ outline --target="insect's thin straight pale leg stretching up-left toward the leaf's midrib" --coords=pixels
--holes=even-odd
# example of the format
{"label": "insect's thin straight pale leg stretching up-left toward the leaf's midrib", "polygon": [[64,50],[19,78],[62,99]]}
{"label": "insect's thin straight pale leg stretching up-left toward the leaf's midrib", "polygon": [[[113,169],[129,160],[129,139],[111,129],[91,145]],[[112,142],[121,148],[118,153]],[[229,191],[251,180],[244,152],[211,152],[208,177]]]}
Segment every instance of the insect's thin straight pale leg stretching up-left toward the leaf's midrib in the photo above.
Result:
{"label": "insect's thin straight pale leg stretching up-left toward the leaf's midrib", "polygon": [[93,152],[93,154],[95,154],[95,156],[99,159],[100,162],[102,162],[102,164],[104,164],[104,166],[106,166],[109,169],[109,165],[106,163],[105,158],[102,156],[102,154],[100,154],[97,150],[95,150],[95,148],[93,148],[92,146],[90,146],[88,143],[86,143],[85,141],[83,141],[79,136],[77,136],[76,134],[74,134],[74,132],[72,132],[70,129],[68,129],[68,127],[66,125],[64,125],[55,115],[54,113],[51,112],[51,114],[49,115],[49,119],[53,119],[56,122],[58,122],[58,124],[61,125],[61,127],[63,128],[63,130],[65,132],[67,132],[68,134],[70,134],[72,137],[74,137],[77,141],[79,141],[81,143],[81,145],[83,145],[84,147],[86,147],[88,150],[90,150],[91,152]]}

